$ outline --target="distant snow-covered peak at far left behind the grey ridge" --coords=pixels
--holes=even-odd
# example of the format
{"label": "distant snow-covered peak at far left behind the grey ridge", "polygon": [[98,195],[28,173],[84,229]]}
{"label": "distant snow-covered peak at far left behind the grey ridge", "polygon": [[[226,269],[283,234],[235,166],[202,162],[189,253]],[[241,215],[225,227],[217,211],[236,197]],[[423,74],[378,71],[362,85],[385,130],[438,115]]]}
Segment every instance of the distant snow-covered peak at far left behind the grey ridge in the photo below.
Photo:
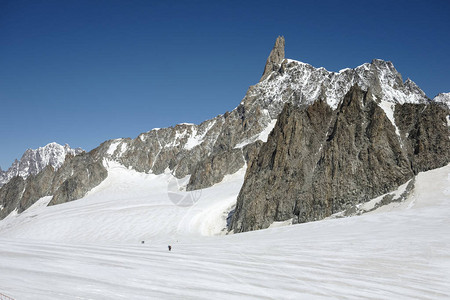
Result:
{"label": "distant snow-covered peak at far left behind the grey ridge", "polygon": [[28,149],[22,155],[20,161],[17,159],[7,171],[0,173],[0,187],[15,176],[27,178],[29,175],[36,175],[47,165],[58,169],[64,163],[66,155],[77,155],[83,152],[83,149],[72,149],[69,145],[60,145],[50,143],[38,149]]}

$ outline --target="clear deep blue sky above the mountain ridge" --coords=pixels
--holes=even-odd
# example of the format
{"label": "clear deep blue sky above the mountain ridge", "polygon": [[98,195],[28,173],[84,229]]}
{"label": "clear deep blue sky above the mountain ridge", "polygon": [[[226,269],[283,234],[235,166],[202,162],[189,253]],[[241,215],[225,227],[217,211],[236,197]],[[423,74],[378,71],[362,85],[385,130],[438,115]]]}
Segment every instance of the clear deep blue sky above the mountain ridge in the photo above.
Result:
{"label": "clear deep blue sky above the mountain ridge", "polygon": [[338,71],[390,60],[450,90],[450,1],[0,0],[0,166],[232,110],[278,35]]}

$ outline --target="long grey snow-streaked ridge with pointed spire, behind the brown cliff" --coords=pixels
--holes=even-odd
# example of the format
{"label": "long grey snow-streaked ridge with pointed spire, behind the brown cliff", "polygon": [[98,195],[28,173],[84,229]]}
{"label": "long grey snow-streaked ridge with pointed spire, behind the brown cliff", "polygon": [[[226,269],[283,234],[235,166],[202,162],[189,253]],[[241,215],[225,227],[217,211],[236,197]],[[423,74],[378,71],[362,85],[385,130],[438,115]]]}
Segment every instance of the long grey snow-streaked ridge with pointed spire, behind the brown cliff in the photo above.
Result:
{"label": "long grey snow-streaked ridge with pointed spire, behind the brown cliff", "polygon": [[329,72],[285,59],[284,44],[284,38],[279,37],[260,82],[248,89],[233,111],[199,125],[179,124],[142,133],[135,139],[106,141],[89,153],[66,159],[59,168],[46,170],[51,184],[41,185],[38,176],[44,175],[40,173],[16,179],[0,190],[0,205],[4,207],[0,217],[19,209],[18,203],[23,209],[42,196],[53,195],[52,204],[84,196],[106,178],[105,165],[110,160],[139,172],[170,170],[179,178],[190,175],[188,190],[211,186],[257,156],[286,103],[303,107],[324,99],[335,110],[354,84],[364,90],[370,87],[378,100],[389,105],[428,101],[412,81],[403,82],[390,62],[373,60],[355,69]]}

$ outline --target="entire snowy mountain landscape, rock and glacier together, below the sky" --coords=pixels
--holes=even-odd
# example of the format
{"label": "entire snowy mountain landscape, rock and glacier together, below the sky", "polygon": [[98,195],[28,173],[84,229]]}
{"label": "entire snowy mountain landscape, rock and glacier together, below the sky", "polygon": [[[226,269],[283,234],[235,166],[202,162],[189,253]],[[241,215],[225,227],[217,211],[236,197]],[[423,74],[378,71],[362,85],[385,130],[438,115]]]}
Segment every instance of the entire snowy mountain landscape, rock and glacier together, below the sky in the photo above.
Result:
{"label": "entire snowy mountain landscape, rock and glacier together, below the sky", "polygon": [[449,298],[449,94],[284,44],[231,112],[30,153],[0,188],[0,298]]}

